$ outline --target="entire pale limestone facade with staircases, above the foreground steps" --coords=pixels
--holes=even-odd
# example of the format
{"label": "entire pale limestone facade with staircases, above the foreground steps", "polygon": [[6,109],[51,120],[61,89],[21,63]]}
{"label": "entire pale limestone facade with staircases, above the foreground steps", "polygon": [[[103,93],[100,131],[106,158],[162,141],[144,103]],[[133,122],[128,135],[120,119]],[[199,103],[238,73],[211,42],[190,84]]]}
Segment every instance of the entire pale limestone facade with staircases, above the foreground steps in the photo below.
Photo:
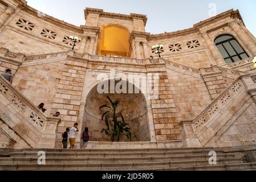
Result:
{"label": "entire pale limestone facade with staircases, above the foreground steps", "polygon": [[[78,144],[84,127],[89,127],[94,145],[108,142],[100,132],[104,111],[99,110],[108,95],[121,99],[132,142],[255,144],[256,41],[238,10],[157,35],[145,31],[147,16],[140,14],[86,8],[86,23],[77,27],[40,13],[24,0],[0,1],[0,14],[0,73],[7,68],[14,73],[13,85],[0,79],[0,147],[60,148],[63,131],[75,122],[81,131]],[[99,55],[105,26],[129,32],[126,57]],[[74,50],[70,35],[80,39]],[[246,59],[226,63],[214,43],[220,35],[233,36]],[[151,49],[156,44],[164,46],[161,58]],[[151,92],[139,87],[139,93],[99,94],[97,85],[111,80],[113,70],[128,78],[128,85],[133,85],[129,75],[141,77]],[[104,77],[99,80],[99,75]],[[36,108],[41,102],[45,113]],[[52,118],[56,111],[61,122]],[[173,144],[177,142],[182,146]]]}

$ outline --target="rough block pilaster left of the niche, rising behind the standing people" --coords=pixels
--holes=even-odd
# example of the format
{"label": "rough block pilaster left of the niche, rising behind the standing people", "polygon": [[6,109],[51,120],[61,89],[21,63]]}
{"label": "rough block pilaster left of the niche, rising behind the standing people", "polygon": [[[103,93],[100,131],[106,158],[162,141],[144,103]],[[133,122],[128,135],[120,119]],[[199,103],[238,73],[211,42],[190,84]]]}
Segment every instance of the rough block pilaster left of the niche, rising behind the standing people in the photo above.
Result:
{"label": "rough block pilaster left of the niche, rising behind the standing people", "polygon": [[[67,127],[72,127],[75,122],[78,122],[85,75],[86,68],[71,62],[64,65],[51,109],[51,114],[55,114],[56,111],[61,114],[62,122],[58,128],[58,139],[61,139],[61,134]],[[81,126],[82,123],[79,125]]]}

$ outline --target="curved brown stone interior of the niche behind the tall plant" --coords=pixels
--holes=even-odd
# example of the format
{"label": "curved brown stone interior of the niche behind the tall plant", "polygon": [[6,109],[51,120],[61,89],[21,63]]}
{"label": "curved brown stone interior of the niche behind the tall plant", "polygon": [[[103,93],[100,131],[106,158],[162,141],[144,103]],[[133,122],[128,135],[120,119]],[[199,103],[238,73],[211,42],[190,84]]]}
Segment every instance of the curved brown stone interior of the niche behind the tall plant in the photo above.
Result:
{"label": "curved brown stone interior of the niche behind the tall plant", "polygon": [[[107,80],[107,82],[109,82],[109,80]],[[135,88],[135,85],[126,81],[125,83],[127,84],[127,88],[129,88],[131,85],[133,88]],[[117,84],[117,82],[115,84]],[[132,94],[100,94],[97,92],[97,85],[92,88],[90,93],[87,95],[83,117],[82,129],[84,129],[84,127],[89,128],[91,134],[90,140],[96,142],[111,141],[107,135],[101,133],[101,130],[105,128],[105,123],[104,121],[101,121],[101,115],[104,113],[104,110],[99,110],[99,107],[103,104],[108,104],[107,96],[109,96],[112,100],[116,100],[117,98],[120,99],[120,105],[117,107],[117,110],[123,110],[125,122],[129,123],[129,127],[132,130],[132,142],[150,141],[151,132],[149,129],[148,108],[144,94],[141,92]],[[121,138],[120,142],[129,141],[124,136]]]}

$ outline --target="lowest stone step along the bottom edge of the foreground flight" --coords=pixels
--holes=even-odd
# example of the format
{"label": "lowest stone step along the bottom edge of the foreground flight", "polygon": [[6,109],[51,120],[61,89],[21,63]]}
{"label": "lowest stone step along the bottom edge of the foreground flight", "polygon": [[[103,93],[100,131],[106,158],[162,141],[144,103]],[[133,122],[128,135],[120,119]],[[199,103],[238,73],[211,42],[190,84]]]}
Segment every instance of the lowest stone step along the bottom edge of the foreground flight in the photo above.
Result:
{"label": "lowest stone step along the bottom edge of the foreground flight", "polygon": [[[236,164],[234,166],[234,164]],[[185,162],[154,162],[154,163],[125,163],[125,164],[47,164],[47,165],[36,165],[36,164],[0,164],[0,170],[87,170],[87,171],[95,171],[95,170],[115,170],[115,171],[134,171],[134,170],[177,170],[177,169],[197,169],[197,170],[204,170],[207,168],[220,168],[233,170],[235,169],[249,169],[252,168],[251,164],[245,163],[237,163],[237,160],[230,160],[229,162],[224,162],[217,160],[216,166],[210,166],[208,160],[192,160],[192,161],[185,161]],[[255,166],[254,166],[255,167]]]}

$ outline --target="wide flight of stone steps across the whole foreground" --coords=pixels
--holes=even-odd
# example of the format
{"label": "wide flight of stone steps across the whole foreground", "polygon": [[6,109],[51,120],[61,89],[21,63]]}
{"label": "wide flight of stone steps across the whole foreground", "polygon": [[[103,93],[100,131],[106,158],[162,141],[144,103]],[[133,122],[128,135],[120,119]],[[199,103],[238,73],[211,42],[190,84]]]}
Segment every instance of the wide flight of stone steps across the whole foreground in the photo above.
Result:
{"label": "wide flight of stone steps across the whole foreground", "polygon": [[[38,165],[38,151],[41,150],[46,152],[46,165]],[[256,170],[256,146],[139,150],[41,150],[0,150],[0,170]],[[216,165],[209,164],[209,151],[216,151]]]}

